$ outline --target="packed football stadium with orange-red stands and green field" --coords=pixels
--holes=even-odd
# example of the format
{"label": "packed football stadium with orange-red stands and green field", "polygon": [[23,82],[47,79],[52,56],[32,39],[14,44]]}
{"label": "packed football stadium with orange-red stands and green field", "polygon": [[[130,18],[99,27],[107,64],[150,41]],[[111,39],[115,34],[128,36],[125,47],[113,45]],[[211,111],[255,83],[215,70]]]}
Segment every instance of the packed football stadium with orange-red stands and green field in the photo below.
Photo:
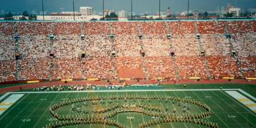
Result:
{"label": "packed football stadium with orange-red stands and green field", "polygon": [[256,127],[254,18],[0,21],[0,65],[0,127]]}

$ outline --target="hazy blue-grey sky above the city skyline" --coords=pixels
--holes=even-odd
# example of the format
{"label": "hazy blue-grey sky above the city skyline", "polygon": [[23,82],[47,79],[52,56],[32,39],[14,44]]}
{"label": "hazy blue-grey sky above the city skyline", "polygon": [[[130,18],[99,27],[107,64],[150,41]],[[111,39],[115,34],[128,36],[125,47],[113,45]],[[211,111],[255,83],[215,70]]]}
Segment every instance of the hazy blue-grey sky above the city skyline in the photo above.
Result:
{"label": "hazy blue-grey sky above the city skyline", "polygon": [[[73,11],[73,0],[43,0],[45,11]],[[133,0],[134,12],[156,12],[159,0]],[[242,9],[256,8],[256,0],[190,0],[192,11],[215,11],[216,6],[227,6],[228,3]],[[130,11],[131,0],[105,0],[105,9]],[[186,11],[188,0],[161,0],[161,11],[171,7],[171,12]],[[102,11],[102,0],[75,0],[75,11],[80,6],[92,6],[97,12]],[[41,0],[0,0],[0,11],[41,11]]]}

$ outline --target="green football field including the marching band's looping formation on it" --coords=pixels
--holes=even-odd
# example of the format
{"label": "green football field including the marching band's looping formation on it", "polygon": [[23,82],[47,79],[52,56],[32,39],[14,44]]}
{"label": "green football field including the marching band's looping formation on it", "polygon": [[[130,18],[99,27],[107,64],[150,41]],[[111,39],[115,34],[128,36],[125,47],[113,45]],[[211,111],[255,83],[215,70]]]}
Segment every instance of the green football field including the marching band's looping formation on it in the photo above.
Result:
{"label": "green football field including the marching band's looping formation on it", "polygon": [[[220,85],[208,85],[207,87],[193,85],[186,88],[170,85],[79,92],[11,92],[0,100],[1,105],[5,105],[3,102],[11,95],[23,95],[0,115],[0,126],[50,127],[55,124],[68,124],[65,127],[114,127],[104,123],[72,124],[75,121],[68,121],[68,119],[102,119],[105,117],[109,122],[128,128],[143,126],[143,124],[146,127],[146,123],[151,122],[157,123],[151,123],[150,127],[158,128],[206,127],[202,124],[185,122],[186,119],[183,119],[183,117],[198,116],[200,119],[190,120],[211,122],[218,127],[256,127],[256,113],[253,110],[256,107],[254,106],[256,87],[255,85],[240,86],[242,85],[236,87],[227,85],[223,86],[222,90],[219,89]],[[238,92],[246,98],[235,99],[227,91],[234,94]],[[240,102],[249,102],[249,100],[252,102],[250,105]],[[63,105],[64,103],[66,105]],[[57,108],[57,105],[60,106]],[[54,106],[56,108],[53,109]],[[209,107],[210,110],[208,111],[205,107]],[[58,120],[50,113],[50,109],[64,119]],[[210,112],[210,115],[200,117],[206,112]],[[107,117],[109,115],[112,116]],[[164,122],[164,119],[177,119],[177,117],[182,118],[183,121]]]}

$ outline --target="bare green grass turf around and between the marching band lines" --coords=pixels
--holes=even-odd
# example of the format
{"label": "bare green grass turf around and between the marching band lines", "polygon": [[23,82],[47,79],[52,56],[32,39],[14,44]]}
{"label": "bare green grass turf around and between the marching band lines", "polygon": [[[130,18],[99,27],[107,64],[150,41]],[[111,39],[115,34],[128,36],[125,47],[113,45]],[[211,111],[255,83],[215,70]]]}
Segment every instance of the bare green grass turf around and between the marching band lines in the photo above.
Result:
{"label": "bare green grass turf around and between the marching band lines", "polygon": [[[213,85],[211,85],[213,87]],[[222,86],[223,88],[238,88],[242,85],[214,85],[216,88]],[[245,87],[245,86],[243,86]],[[181,85],[177,86],[161,86],[161,89],[181,89]],[[186,89],[198,89],[198,88],[210,88],[209,85],[192,85],[186,87]],[[132,87],[125,88],[125,90],[141,90],[144,87]],[[183,89],[183,88],[182,88]],[[245,91],[255,89],[254,86],[246,85]],[[21,92],[22,93],[22,92]],[[249,91],[250,93],[250,91]],[[222,90],[206,90],[206,91],[154,91],[154,92],[58,92],[58,93],[28,93],[23,95],[18,102],[12,105],[6,112],[0,116],[0,126],[1,127],[45,127],[46,124],[55,123],[57,120],[50,114],[50,105],[57,102],[62,102],[63,100],[75,99],[78,97],[96,97],[96,96],[122,96],[122,95],[146,95],[146,96],[174,96],[174,97],[186,97],[193,98],[198,101],[206,103],[211,109],[211,116],[206,119],[210,122],[218,123],[219,127],[256,127],[256,114],[249,110],[247,107],[242,105],[240,102],[230,97],[227,93]],[[253,95],[253,94],[252,94]],[[91,102],[87,102],[87,106],[81,109],[90,112],[95,107],[107,107],[118,103],[120,105],[129,104],[133,105],[135,103],[143,102],[145,105],[156,105],[162,107],[164,111],[171,112],[174,107],[177,112],[182,113],[181,108],[177,106],[178,103],[173,104],[171,101],[157,101],[157,100],[117,100],[113,102],[105,102],[97,105],[92,105]],[[70,110],[71,105],[61,107],[56,110],[59,114],[72,115],[81,113],[74,112]],[[191,110],[187,113],[198,113],[202,112],[201,108],[191,106]],[[91,113],[92,114],[92,113]],[[134,119],[129,119],[134,117]],[[125,127],[138,127],[142,122],[146,122],[152,117],[146,116],[144,114],[139,114],[136,112],[127,112],[122,114],[117,114],[112,117],[118,122],[124,124]],[[100,124],[91,125],[74,125],[69,127],[103,127]],[[110,127],[110,126],[105,126]],[[154,127],[202,127],[196,124],[188,123],[169,123],[169,124],[159,124]]]}

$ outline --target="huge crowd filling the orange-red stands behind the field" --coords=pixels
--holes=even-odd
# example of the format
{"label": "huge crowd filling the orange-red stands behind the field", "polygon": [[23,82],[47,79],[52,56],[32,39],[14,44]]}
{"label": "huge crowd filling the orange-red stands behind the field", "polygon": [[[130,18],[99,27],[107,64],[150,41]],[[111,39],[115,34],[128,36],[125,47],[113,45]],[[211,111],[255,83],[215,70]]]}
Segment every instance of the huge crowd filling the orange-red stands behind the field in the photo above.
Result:
{"label": "huge crowd filling the orange-red stands behind the field", "polygon": [[255,21],[1,22],[0,82],[17,71],[20,80],[256,77],[255,31]]}

